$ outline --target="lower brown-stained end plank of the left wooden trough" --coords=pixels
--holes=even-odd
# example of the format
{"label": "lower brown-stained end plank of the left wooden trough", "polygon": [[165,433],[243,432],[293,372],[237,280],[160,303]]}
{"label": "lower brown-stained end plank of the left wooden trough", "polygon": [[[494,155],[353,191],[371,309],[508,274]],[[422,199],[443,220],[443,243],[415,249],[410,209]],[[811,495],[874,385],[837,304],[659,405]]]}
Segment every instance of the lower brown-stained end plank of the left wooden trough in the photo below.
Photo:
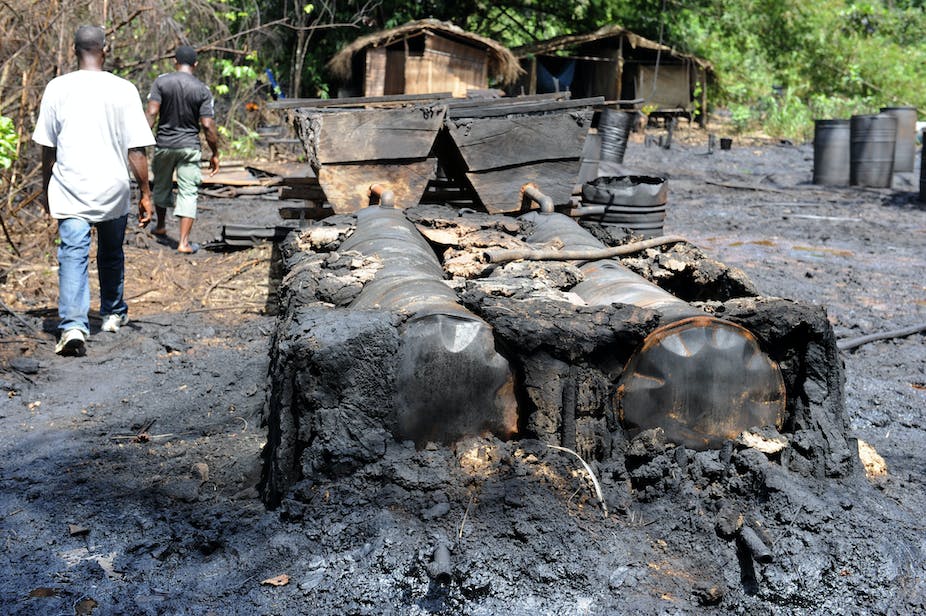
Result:
{"label": "lower brown-stained end plank of the left wooden trough", "polygon": [[382,184],[391,190],[396,207],[417,205],[436,172],[436,158],[394,164],[326,165],[319,169],[318,181],[335,213],[346,214],[369,205],[373,184]]}

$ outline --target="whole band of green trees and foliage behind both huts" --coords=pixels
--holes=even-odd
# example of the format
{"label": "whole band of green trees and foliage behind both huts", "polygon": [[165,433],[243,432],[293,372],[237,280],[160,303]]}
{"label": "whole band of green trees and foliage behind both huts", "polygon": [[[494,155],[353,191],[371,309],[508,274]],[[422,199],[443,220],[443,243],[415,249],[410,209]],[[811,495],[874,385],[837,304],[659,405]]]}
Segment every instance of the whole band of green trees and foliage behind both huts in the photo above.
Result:
{"label": "whole band of green trees and foliage behind both huts", "polygon": [[[926,2],[923,0],[379,0],[372,3],[215,1],[229,28],[286,18],[324,27],[311,34],[290,96],[327,97],[325,63],[357,37],[433,17],[509,47],[619,24],[714,67],[706,84],[713,108],[725,107],[739,131],[803,139],[818,118],[870,113],[880,106],[926,109]],[[181,9],[184,10],[184,9]],[[253,20],[253,17],[252,17]],[[217,67],[217,92],[231,96],[266,67],[291,75],[297,31],[280,29],[259,47],[261,62]],[[244,65],[244,66],[242,66]],[[252,66],[255,73],[247,72]]]}

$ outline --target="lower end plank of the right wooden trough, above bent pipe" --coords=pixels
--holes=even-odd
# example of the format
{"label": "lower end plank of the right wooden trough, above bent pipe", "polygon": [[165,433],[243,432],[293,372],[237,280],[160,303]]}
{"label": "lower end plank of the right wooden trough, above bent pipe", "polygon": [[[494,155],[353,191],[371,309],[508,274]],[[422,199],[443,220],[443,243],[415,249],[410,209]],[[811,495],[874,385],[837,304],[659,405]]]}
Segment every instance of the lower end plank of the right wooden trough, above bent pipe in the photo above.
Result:
{"label": "lower end plank of the right wooden trough, above bent pipe", "polygon": [[532,182],[555,205],[566,205],[572,196],[579,172],[579,159],[545,161],[482,173],[467,173],[473,188],[490,214],[521,209],[521,187]]}

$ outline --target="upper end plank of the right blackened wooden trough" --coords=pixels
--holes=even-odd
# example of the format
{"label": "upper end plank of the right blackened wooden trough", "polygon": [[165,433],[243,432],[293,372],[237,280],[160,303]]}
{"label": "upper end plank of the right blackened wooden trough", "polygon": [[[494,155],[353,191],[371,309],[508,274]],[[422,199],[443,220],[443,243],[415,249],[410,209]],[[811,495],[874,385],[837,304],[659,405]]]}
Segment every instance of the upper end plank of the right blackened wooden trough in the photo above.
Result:
{"label": "upper end plank of the right blackened wooden trough", "polygon": [[485,171],[544,160],[578,160],[591,117],[588,109],[584,114],[449,120],[446,125],[466,170]]}

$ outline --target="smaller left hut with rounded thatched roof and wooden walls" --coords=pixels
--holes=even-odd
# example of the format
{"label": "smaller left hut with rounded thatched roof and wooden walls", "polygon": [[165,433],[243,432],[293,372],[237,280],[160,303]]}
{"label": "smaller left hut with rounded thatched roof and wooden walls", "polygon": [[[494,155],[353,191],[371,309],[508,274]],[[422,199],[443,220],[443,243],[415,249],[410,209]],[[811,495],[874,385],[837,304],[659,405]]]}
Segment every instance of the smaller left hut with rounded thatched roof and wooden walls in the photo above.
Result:
{"label": "smaller left hut with rounded thatched roof and wooden walls", "polygon": [[506,47],[436,19],[382,30],[342,49],[329,62],[352,96],[453,92],[514,82],[523,72]]}

